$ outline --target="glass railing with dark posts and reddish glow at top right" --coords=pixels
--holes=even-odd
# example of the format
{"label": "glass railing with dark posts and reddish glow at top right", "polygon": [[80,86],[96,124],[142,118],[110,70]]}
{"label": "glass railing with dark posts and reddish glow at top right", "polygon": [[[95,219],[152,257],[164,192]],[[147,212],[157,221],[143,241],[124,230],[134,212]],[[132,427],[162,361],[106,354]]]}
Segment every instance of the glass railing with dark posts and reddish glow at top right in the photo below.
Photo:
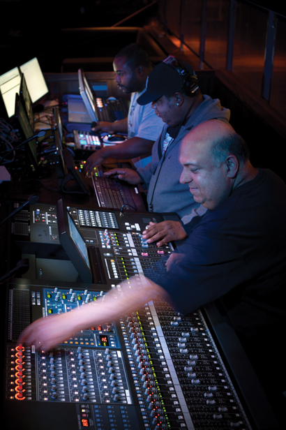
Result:
{"label": "glass railing with dark posts and reddish glow at top right", "polygon": [[286,118],[285,16],[247,0],[160,0],[159,15],[200,68],[226,68]]}

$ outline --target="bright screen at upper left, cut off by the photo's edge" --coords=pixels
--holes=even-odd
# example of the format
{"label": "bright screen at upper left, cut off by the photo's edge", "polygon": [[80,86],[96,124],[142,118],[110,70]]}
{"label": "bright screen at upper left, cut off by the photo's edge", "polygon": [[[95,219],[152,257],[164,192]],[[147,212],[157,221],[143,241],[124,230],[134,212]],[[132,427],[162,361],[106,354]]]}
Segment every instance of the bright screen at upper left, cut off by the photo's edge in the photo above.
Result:
{"label": "bright screen at upper left, cut off by the photo's edge", "polygon": [[17,67],[0,76],[0,93],[8,118],[15,114],[15,96],[20,94],[21,74]]}

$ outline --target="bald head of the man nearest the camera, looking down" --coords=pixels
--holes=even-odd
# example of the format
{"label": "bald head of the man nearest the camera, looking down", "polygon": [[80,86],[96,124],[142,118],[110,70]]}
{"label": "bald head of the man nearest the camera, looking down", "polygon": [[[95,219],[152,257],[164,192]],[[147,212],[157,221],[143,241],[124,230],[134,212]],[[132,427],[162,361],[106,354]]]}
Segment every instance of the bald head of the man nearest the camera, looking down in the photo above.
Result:
{"label": "bald head of the man nearest the camera, looking down", "polygon": [[254,175],[244,140],[232,126],[216,119],[185,136],[179,161],[181,183],[188,184],[194,200],[207,209],[216,209],[236,186]]}

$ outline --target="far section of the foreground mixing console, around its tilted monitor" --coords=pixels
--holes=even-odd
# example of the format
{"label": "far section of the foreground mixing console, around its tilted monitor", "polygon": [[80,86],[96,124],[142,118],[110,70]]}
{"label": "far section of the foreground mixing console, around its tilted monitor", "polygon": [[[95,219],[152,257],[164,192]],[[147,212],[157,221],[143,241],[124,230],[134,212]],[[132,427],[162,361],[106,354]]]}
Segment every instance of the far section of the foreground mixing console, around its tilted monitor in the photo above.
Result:
{"label": "far section of the foreground mixing console, around its tilted monitor", "polygon": [[[34,206],[35,207],[35,206]],[[98,250],[97,258],[103,267],[95,283],[113,285],[126,277],[140,274],[161,258],[167,258],[174,250],[172,244],[157,246],[142,239],[142,231],[149,223],[164,219],[178,219],[176,214],[127,214],[70,207],[69,214],[89,249]],[[24,212],[24,211],[23,211]],[[37,205],[19,218],[15,216],[13,232],[23,253],[33,251],[52,258],[55,248],[61,248],[57,224],[57,208],[52,205]],[[52,263],[51,263],[52,264]],[[43,265],[41,265],[43,268]],[[37,271],[37,279],[45,273]],[[52,278],[53,280],[57,280]]]}

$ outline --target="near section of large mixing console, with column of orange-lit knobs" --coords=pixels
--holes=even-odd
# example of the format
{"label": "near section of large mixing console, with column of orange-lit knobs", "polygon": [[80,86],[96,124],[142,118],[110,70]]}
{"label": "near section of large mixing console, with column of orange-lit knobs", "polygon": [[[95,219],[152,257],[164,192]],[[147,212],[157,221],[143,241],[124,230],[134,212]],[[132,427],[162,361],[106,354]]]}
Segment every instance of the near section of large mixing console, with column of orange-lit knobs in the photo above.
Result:
{"label": "near section of large mixing console, with column of orange-lit knobs", "polygon": [[[156,300],[75,333],[50,353],[16,346],[36,318],[104,294],[86,284],[10,284],[5,428],[251,429],[201,311],[183,317]],[[19,324],[23,312],[31,319]]]}

